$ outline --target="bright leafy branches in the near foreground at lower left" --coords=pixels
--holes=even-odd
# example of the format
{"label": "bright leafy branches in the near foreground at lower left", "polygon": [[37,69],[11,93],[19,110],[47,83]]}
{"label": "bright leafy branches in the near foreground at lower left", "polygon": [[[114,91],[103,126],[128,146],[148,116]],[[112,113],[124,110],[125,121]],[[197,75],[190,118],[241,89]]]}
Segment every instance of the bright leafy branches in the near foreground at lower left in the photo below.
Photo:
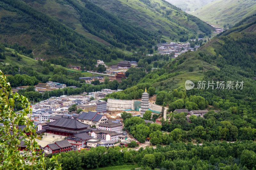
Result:
{"label": "bright leafy branches in the near foreground at lower left", "polygon": [[[17,92],[12,93],[1,70],[0,86],[0,123],[3,124],[0,126],[0,169],[46,169],[44,154],[35,140],[36,129],[28,117],[31,114],[30,102]],[[23,110],[15,113],[15,105]],[[26,146],[23,151],[22,145]],[[61,169],[57,155],[51,162],[55,163],[54,170]]]}

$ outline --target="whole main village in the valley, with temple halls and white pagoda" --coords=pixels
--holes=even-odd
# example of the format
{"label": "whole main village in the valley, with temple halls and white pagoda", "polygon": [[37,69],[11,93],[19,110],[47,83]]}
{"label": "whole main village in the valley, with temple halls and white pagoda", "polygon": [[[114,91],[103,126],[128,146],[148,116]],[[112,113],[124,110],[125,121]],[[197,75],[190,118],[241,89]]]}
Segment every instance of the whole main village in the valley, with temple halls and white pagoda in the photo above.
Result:
{"label": "whole main village in the valley, with temple halls and white pagoda", "polygon": [[[109,93],[110,89],[102,89],[102,93]],[[112,92],[112,91],[111,91]],[[97,97],[97,96],[95,96]],[[167,107],[154,104],[154,96],[149,98],[147,89],[138,100],[116,100],[107,101],[91,100],[87,94],[52,97],[31,105],[31,121],[36,126],[38,135],[36,141],[45,154],[60,152],[80,151],[92,147],[104,146],[127,147],[132,141],[140,147],[151,145],[146,138],[145,143],[138,142],[134,137],[124,130],[124,122],[121,117],[123,112],[131,113],[132,116],[143,117],[147,110],[152,115],[160,115],[164,109],[164,120],[167,116]],[[175,113],[187,112],[187,116],[196,115],[203,117],[208,110],[188,111],[187,109],[175,110]],[[160,118],[155,122],[144,120],[145,123],[161,124]],[[25,125],[19,126],[19,129]],[[27,133],[29,135],[29,133]],[[20,150],[26,148],[21,143]]]}

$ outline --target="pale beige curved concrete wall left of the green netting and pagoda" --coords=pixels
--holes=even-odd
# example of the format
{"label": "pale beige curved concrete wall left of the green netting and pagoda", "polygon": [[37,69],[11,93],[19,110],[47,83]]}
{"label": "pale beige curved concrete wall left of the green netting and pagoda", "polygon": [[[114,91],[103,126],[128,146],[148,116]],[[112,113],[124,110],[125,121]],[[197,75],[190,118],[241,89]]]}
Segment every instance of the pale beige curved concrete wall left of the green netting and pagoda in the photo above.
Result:
{"label": "pale beige curved concrete wall left of the green netting and pagoda", "polygon": [[134,109],[133,100],[117,100],[117,99],[108,99],[107,110],[108,111],[117,111],[125,109]]}

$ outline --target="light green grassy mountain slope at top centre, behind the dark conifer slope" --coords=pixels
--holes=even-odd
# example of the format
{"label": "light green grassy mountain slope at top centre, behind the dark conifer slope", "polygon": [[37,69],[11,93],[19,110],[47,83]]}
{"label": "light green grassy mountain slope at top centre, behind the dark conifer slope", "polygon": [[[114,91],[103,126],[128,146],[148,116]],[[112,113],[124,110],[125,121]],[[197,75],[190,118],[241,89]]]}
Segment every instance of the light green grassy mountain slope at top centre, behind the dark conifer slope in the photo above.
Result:
{"label": "light green grassy mountain slope at top centre, behind the dark conifer slope", "polygon": [[[84,1],[84,0],[82,0]],[[179,39],[199,33],[209,34],[212,27],[198,18],[181,11],[176,6],[161,0],[93,0],[94,4],[121,16],[137,25],[164,36]]]}

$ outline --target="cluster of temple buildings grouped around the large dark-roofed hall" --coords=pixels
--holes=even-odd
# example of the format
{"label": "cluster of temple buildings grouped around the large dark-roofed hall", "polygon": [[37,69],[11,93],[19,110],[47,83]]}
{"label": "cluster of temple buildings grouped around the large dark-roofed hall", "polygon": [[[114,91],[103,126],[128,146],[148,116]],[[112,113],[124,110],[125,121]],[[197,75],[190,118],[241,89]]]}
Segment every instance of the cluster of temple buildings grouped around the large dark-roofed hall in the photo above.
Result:
{"label": "cluster of temple buildings grouped around the large dark-roofed hall", "polygon": [[[97,112],[82,112],[80,115],[53,116],[50,122],[38,125],[37,133],[64,136],[64,140],[49,143],[43,147],[44,152],[60,153],[79,151],[97,146],[112,147],[119,140],[125,145],[131,140],[126,132],[122,131],[123,123],[120,120],[109,119],[105,114]],[[139,143],[136,141],[136,143]]]}

